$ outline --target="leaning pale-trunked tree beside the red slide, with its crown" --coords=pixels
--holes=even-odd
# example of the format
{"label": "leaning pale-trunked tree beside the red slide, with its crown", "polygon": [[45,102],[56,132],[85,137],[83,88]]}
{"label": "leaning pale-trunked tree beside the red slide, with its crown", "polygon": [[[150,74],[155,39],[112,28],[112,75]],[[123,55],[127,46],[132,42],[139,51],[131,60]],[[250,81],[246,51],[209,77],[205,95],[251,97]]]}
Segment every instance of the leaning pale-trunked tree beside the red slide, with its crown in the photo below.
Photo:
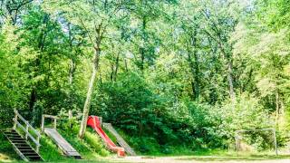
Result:
{"label": "leaning pale-trunked tree beside the red slide, with its crown", "polygon": [[89,82],[86,101],[83,106],[82,124],[79,137],[84,136],[86,123],[91,105],[92,92],[96,79],[96,73],[99,71],[100,55],[102,53],[102,44],[104,39],[110,37],[112,20],[115,15],[118,15],[122,7],[125,6],[123,1],[47,1],[47,8],[63,11],[65,17],[72,22],[82,27],[87,39],[89,40],[94,51],[92,58],[92,75]]}

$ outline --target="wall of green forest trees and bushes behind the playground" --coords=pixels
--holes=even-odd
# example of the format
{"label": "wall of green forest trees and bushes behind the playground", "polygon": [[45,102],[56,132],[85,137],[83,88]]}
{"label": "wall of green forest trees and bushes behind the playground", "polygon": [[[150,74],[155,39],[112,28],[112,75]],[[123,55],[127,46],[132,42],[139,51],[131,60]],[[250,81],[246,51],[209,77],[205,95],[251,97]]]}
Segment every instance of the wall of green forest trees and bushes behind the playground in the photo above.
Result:
{"label": "wall of green forest trees and bushes behind the playground", "polygon": [[[43,113],[91,106],[140,153],[227,149],[237,129],[289,139],[288,0],[0,4],[1,129],[13,109],[39,127]],[[108,155],[94,134],[75,136],[78,120],[60,123],[82,153]],[[245,141],[262,150],[270,138]]]}

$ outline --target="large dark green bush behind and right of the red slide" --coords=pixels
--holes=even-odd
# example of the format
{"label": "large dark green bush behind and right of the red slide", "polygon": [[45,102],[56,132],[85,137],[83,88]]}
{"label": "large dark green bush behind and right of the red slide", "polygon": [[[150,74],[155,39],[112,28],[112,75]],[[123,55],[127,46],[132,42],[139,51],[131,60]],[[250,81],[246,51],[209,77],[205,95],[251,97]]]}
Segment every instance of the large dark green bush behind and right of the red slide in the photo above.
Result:
{"label": "large dark green bush behind and right of the red slide", "polygon": [[[192,149],[202,149],[218,140],[208,131],[215,125],[208,105],[159,95],[133,72],[121,73],[117,82],[103,82],[95,101],[98,105],[92,105],[93,115],[102,116],[131,136],[155,139],[162,147],[191,144]],[[137,140],[140,151],[150,152],[153,145],[148,147],[150,141],[145,144],[142,139]],[[169,148],[156,149],[169,152]]]}

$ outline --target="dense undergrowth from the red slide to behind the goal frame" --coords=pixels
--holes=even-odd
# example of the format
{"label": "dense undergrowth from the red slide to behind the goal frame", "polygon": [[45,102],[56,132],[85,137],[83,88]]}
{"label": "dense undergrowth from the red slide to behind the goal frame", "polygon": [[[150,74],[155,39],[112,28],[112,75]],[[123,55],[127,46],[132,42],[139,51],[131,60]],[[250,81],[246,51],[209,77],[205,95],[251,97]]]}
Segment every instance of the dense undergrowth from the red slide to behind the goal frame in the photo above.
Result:
{"label": "dense undergrowth from the red slide to behind the goal frame", "polygon": [[[238,95],[234,103],[226,100],[215,106],[177,100],[166,91],[158,93],[159,87],[133,72],[121,73],[117,82],[103,82],[98,89],[93,103],[99,105],[92,105],[91,113],[121,129],[142,154],[234,149],[236,130],[274,126],[261,100],[248,93]],[[269,132],[248,132],[244,137],[256,150],[273,149]],[[284,133],[278,131],[277,139],[279,146],[285,144]]]}

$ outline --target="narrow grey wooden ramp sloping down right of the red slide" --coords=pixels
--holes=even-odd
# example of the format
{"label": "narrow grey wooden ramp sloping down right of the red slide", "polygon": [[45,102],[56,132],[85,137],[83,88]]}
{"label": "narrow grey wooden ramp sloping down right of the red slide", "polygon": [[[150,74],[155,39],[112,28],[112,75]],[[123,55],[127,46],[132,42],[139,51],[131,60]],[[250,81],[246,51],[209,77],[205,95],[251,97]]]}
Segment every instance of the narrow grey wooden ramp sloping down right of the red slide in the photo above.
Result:
{"label": "narrow grey wooden ramp sloping down right of the red slide", "polygon": [[111,132],[111,134],[117,139],[118,144],[124,148],[129,155],[136,156],[135,151],[131,149],[131,147],[124,139],[121,138],[121,135],[119,135],[117,130],[111,126],[111,123],[102,123],[102,127]]}

